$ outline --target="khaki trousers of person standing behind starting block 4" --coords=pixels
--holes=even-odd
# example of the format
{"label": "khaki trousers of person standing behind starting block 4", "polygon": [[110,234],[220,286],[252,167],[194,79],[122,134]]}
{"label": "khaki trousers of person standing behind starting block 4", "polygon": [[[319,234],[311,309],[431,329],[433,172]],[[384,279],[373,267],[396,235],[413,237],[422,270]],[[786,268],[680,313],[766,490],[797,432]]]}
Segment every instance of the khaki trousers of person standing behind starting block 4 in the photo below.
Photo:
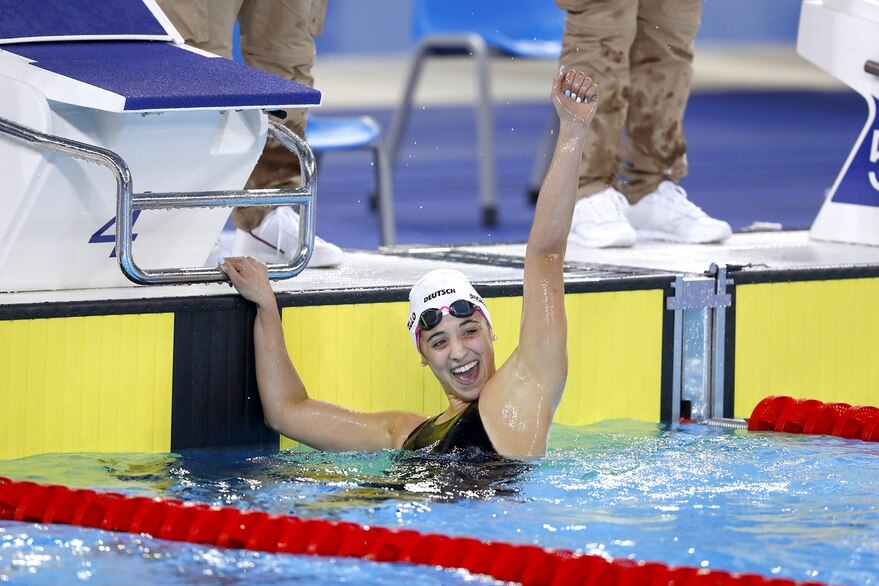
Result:
{"label": "khaki trousers of person standing behind starting block 4", "polygon": [[[327,0],[157,0],[187,44],[232,58],[232,31],[238,21],[241,53],[251,67],[314,85],[314,37],[323,32]],[[291,108],[283,123],[305,137],[308,111]],[[269,139],[247,181],[248,189],[298,187],[298,159]],[[232,221],[256,228],[271,208],[235,208]]]}

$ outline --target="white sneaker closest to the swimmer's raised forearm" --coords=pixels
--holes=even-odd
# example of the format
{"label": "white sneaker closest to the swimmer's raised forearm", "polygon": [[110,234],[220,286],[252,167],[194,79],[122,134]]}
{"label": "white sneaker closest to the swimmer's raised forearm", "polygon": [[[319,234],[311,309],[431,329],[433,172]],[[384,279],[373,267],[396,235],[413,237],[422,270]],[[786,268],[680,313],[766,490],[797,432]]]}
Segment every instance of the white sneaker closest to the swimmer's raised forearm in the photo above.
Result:
{"label": "white sneaker closest to the swimmer's raised forearm", "polygon": [[574,206],[568,242],[587,248],[632,246],[635,230],[626,219],[628,207],[629,202],[613,187],[581,198]]}

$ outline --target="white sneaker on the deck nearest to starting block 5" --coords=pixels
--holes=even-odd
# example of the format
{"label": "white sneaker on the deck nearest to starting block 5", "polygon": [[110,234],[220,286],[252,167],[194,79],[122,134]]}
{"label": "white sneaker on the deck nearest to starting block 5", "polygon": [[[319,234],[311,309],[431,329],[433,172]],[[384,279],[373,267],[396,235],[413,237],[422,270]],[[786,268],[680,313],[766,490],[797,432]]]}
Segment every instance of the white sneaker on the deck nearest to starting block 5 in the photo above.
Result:
{"label": "white sneaker on the deck nearest to starting block 5", "polygon": [[710,217],[687,199],[680,185],[663,181],[641,201],[629,206],[629,222],[638,238],[706,244],[732,235],[729,224]]}

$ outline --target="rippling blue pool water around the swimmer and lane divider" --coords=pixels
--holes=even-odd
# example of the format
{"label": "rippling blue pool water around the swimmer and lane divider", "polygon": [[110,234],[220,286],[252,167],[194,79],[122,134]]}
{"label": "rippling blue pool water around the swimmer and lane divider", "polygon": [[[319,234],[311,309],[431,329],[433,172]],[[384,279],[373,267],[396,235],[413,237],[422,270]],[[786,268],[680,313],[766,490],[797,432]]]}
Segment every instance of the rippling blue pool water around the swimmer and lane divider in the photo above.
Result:
{"label": "rippling blue pool water around the swimmer and lane divider", "polygon": [[[530,465],[394,452],[46,455],[0,476],[833,584],[879,584],[879,444],[605,422]],[[0,582],[491,583],[464,572],[0,522]]]}

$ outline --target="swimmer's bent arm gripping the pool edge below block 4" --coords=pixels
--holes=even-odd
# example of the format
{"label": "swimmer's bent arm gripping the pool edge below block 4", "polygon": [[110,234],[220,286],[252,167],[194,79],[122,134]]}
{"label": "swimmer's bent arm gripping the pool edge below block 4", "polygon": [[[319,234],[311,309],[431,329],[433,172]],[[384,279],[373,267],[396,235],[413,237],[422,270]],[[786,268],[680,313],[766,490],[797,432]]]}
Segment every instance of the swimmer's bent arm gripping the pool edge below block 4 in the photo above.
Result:
{"label": "swimmer's bent arm gripping the pool edge below block 4", "polygon": [[424,421],[415,413],[362,413],[310,398],[287,352],[266,266],[250,257],[235,257],[219,267],[241,296],[256,304],[256,382],[272,429],[320,450],[380,450],[400,448]]}

